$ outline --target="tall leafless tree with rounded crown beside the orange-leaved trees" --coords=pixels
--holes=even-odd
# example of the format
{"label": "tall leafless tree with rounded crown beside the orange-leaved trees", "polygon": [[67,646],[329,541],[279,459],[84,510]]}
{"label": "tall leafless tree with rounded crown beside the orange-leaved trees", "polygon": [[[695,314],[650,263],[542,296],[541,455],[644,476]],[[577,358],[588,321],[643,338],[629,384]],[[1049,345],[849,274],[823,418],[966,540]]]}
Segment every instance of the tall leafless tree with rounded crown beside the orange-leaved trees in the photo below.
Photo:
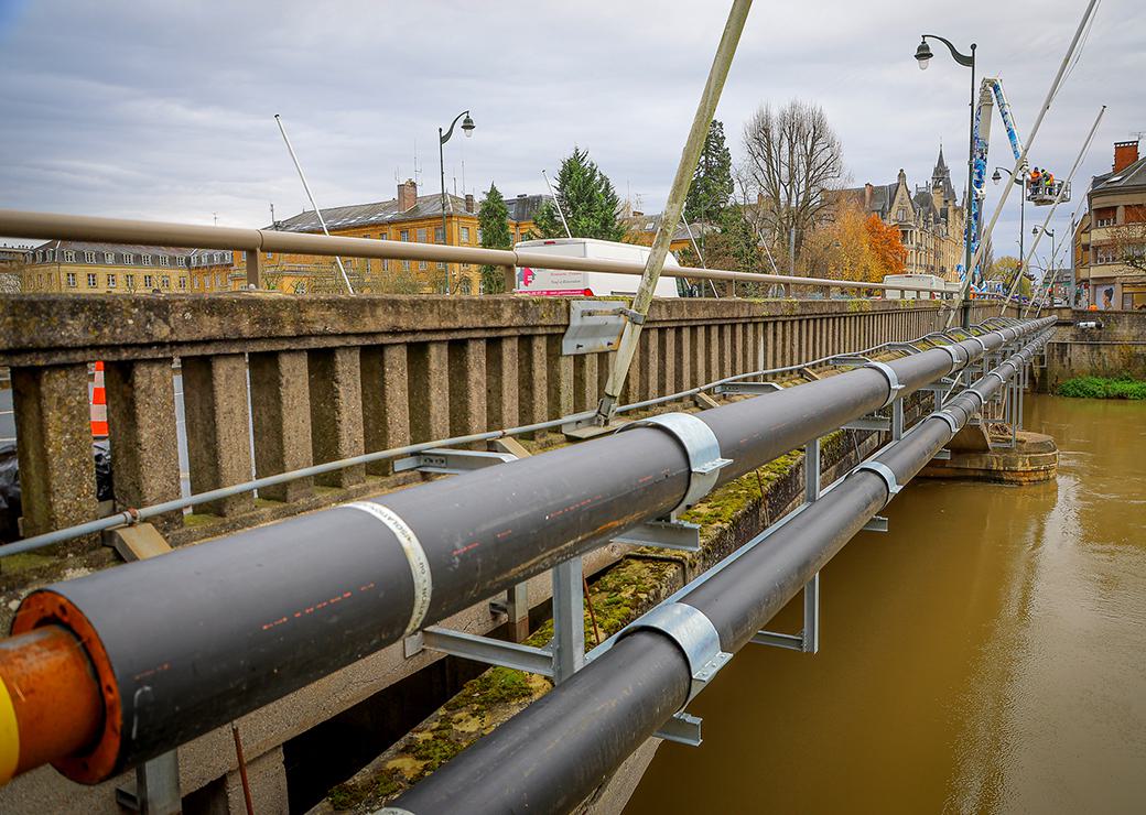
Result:
{"label": "tall leafless tree with rounded crown beside the orange-leaved trees", "polygon": [[794,230],[799,253],[830,205],[825,192],[845,181],[840,140],[824,109],[800,100],[761,106],[744,126],[744,152],[739,176],[745,197],[756,200],[761,237],[787,255]]}

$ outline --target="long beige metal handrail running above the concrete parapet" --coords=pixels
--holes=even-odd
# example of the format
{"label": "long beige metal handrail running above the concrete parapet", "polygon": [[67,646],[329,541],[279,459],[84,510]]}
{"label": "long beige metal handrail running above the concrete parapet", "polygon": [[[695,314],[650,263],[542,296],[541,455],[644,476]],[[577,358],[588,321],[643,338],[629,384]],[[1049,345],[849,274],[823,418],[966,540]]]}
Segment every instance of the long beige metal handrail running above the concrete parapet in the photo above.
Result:
{"label": "long beige metal handrail running above the concrete parapet", "polygon": [[[61,240],[95,240],[109,244],[146,244],[152,246],[179,246],[185,248],[244,250],[246,252],[285,252],[320,256],[371,258],[378,260],[417,260],[442,263],[474,263],[477,266],[535,266],[565,271],[606,271],[615,275],[644,274],[641,262],[568,258],[565,255],[519,252],[512,250],[487,250],[473,246],[450,246],[444,244],[418,244],[403,240],[375,240],[372,238],[346,238],[338,236],[311,235],[304,232],[280,232],[273,229],[244,229],[237,227],[199,227],[190,223],[164,221],[139,221],[92,215],[60,215],[21,209],[0,209],[0,235],[22,238]],[[559,267],[555,267],[556,261]],[[906,292],[931,292],[928,286],[912,286],[885,283],[857,283],[794,275],[763,275],[725,269],[702,269],[699,267],[668,267],[666,277],[697,277],[712,280],[745,280],[756,283],[783,283],[799,286],[831,286],[832,288],[896,290]]]}

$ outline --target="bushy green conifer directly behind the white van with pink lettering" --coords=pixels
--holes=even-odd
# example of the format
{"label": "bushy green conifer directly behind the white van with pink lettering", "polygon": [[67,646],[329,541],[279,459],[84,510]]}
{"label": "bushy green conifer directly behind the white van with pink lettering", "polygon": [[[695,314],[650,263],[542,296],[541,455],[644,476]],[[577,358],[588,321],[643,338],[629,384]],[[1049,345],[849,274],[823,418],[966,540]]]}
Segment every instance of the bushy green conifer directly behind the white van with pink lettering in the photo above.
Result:
{"label": "bushy green conifer directly behind the white van with pink lettering", "polygon": [[[578,147],[562,161],[554,190],[575,238],[620,240],[625,225],[617,219],[620,199],[613,182],[601,172],[589,153]],[[550,201],[537,209],[533,222],[539,237],[564,238],[560,214]]]}

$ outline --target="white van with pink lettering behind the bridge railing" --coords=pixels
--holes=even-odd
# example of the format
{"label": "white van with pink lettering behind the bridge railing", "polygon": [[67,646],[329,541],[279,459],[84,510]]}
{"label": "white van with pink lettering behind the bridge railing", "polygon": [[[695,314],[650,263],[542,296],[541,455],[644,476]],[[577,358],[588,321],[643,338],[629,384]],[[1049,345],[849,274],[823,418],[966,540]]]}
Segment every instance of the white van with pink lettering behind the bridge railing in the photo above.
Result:
{"label": "white van with pink lettering behind the bridge railing", "polygon": [[[521,266],[517,268],[517,286],[515,294],[533,294],[542,296],[609,296],[612,294],[634,295],[641,283],[639,275],[617,275],[603,271],[565,271],[560,268],[559,258],[596,258],[601,260],[623,260],[633,263],[645,263],[651,248],[639,244],[622,244],[615,240],[597,240],[596,238],[544,238],[541,240],[523,240],[515,245],[519,252],[529,254],[555,255],[552,268]],[[669,252],[665,258],[665,270],[680,268],[676,258]],[[653,295],[658,298],[676,298],[675,277],[661,274],[657,280]],[[683,283],[683,280],[682,280]]]}

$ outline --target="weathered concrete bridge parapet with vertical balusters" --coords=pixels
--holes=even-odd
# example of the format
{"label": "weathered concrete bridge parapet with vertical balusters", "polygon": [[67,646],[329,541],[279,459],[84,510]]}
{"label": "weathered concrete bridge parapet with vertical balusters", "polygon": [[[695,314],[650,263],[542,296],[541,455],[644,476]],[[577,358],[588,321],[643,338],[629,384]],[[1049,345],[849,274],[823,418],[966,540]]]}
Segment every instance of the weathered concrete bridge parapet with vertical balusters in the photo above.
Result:
{"label": "weathered concrete bridge parapet with vertical balusters", "polygon": [[[203,492],[590,409],[609,355],[562,354],[570,302],[0,296],[0,366],[10,367],[15,390],[23,533],[179,498],[181,435],[185,477],[191,492]],[[991,316],[990,304],[976,308],[976,319]],[[941,327],[932,301],[661,300],[622,398]],[[113,506],[96,501],[92,473],[87,366],[96,359],[108,371]],[[179,545],[399,485],[390,473],[388,462],[352,467],[267,489],[257,501],[244,493],[190,516],[170,513],[158,525]]]}

